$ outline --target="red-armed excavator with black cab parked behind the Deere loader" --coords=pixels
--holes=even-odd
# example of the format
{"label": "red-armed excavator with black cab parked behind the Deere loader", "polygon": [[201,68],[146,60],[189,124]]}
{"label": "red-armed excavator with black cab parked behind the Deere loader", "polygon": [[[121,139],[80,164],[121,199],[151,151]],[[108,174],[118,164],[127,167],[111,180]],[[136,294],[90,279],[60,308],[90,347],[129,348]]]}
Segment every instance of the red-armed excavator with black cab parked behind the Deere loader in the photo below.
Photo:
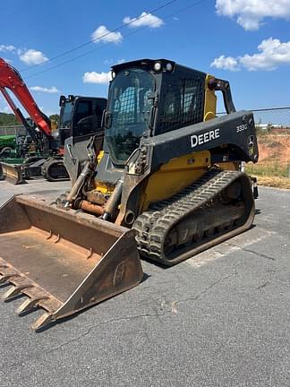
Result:
{"label": "red-armed excavator with black cab parked behind the Deere loader", "polygon": [[[19,107],[13,102],[7,90],[13,92],[21,106],[30,115],[30,120],[24,118]],[[64,141],[73,137],[78,142],[83,136],[98,133],[101,126],[103,110],[107,106],[107,99],[90,98],[70,95],[60,98],[60,125],[58,133],[52,130],[49,118],[39,109],[30,90],[21,78],[21,74],[11,65],[0,58],[0,91],[15,116],[27,130],[30,141],[33,142],[34,154],[28,151],[27,142],[20,144],[21,165],[2,162],[4,176],[14,184],[25,183],[25,178],[45,176],[49,181],[69,179],[64,168]]]}

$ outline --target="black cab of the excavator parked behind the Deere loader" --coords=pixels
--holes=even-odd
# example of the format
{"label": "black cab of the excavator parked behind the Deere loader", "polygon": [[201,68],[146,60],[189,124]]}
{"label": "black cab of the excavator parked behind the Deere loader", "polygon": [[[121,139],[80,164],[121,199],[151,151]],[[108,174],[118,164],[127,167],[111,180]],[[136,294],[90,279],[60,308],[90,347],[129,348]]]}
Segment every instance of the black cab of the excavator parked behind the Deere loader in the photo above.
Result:
{"label": "black cab of the excavator parked behind the Deere loader", "polygon": [[73,137],[73,142],[89,139],[93,133],[101,131],[103,111],[107,106],[107,99],[61,96],[59,100],[60,143],[64,146],[67,138]]}

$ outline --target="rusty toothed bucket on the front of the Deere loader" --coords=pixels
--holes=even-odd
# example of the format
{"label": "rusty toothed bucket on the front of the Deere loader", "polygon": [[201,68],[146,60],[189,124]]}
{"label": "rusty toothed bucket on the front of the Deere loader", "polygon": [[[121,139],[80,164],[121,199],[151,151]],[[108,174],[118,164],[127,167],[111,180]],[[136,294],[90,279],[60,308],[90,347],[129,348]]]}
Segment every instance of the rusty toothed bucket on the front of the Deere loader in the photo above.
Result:
{"label": "rusty toothed bucket on the front of the Deere loader", "polygon": [[74,314],[132,288],[142,268],[132,229],[28,195],[0,207],[0,283],[28,298],[23,314],[45,309],[32,328]]}

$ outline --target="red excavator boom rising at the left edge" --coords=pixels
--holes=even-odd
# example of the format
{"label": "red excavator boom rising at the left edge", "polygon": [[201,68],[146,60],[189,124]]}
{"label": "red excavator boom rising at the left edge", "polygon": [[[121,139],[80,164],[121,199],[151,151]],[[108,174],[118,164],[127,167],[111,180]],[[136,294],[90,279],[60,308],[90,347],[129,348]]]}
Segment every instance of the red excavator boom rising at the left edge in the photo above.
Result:
{"label": "red excavator boom rising at the left edge", "polygon": [[[23,82],[21,74],[18,73],[11,64],[8,64],[4,59],[0,58],[0,91],[8,105],[13,109],[15,116],[17,116],[21,124],[24,124],[20,109],[15,106],[6,89],[13,92],[16,99],[20,101],[21,106],[29,113],[30,118],[38,126],[39,130],[44,133],[47,138],[51,138],[50,120],[39,109],[37,103],[30,94],[30,90],[28,90],[26,84]],[[25,127],[28,129],[27,125],[25,125]],[[32,129],[29,130],[29,133],[31,131]],[[31,137],[34,140],[35,134],[32,134]]]}

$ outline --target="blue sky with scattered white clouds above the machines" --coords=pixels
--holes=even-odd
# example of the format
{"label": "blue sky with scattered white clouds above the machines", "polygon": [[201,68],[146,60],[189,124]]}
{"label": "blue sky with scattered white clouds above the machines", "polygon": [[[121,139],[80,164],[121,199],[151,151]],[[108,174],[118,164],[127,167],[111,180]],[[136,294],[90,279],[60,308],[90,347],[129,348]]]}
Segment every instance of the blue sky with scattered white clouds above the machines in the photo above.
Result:
{"label": "blue sky with scattered white clouds above the machines", "polygon": [[[290,0],[175,0],[146,15],[168,1],[6,2],[0,56],[48,115],[58,112],[60,94],[106,96],[110,65],[142,57],[228,80],[238,108],[290,106]],[[0,111],[9,111],[2,98]]]}

